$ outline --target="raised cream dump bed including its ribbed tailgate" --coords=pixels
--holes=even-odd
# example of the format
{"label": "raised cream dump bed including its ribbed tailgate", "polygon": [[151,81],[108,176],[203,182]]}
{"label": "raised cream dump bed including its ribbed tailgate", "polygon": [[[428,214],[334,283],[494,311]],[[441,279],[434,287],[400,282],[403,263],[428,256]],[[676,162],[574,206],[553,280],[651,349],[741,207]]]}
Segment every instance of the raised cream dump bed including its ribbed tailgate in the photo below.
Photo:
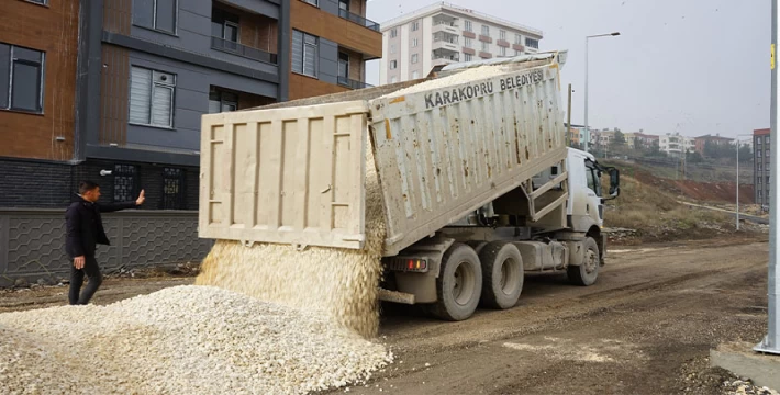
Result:
{"label": "raised cream dump bed including its ribbed tailgate", "polygon": [[363,248],[372,147],[397,255],[566,158],[557,59],[203,115],[199,235]]}

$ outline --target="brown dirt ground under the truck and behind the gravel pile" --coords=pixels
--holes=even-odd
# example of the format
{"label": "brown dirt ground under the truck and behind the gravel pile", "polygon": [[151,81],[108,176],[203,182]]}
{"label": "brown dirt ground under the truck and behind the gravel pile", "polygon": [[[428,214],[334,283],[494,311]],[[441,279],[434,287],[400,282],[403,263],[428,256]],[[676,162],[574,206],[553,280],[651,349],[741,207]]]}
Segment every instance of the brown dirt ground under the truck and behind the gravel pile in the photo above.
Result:
{"label": "brown dirt ground under the truck and behind the gravel pile", "polygon": [[[350,394],[721,394],[710,349],[758,342],[767,321],[766,235],[613,247],[599,282],[526,275],[521,303],[444,323],[388,307],[395,362]],[[192,278],[109,279],[107,304]],[[63,305],[67,287],[0,291],[0,313]],[[345,392],[346,388],[333,393]]]}

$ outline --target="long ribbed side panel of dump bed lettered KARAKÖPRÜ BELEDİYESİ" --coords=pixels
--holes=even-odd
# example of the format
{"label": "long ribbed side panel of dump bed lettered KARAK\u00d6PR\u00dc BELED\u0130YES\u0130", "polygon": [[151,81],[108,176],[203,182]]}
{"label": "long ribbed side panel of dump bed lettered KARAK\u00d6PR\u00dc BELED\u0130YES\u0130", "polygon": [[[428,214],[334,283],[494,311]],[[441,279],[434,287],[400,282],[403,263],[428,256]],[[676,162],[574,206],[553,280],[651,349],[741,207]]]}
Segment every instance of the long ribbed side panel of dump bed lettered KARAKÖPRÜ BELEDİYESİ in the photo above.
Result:
{"label": "long ribbed side panel of dump bed lettered KARAK\u00d6PR\u00dc BELED\u0130YES\u0130", "polygon": [[386,256],[566,157],[557,65],[370,102]]}

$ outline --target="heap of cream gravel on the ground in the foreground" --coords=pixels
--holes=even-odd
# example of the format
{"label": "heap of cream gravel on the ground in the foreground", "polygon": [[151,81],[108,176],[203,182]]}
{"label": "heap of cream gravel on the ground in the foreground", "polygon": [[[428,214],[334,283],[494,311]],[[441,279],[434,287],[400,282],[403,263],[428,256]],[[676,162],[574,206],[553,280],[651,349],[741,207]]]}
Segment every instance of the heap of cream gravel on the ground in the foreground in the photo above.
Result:
{"label": "heap of cream gravel on the ground in the foreground", "polygon": [[212,286],[0,314],[2,394],[302,394],[391,359],[323,316]]}

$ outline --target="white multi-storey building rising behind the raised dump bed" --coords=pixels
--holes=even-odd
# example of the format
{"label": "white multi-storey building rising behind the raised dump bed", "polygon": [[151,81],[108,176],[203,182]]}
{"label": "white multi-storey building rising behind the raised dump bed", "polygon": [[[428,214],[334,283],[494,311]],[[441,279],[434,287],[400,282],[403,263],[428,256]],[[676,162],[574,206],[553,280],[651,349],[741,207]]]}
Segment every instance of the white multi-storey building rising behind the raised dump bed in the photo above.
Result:
{"label": "white multi-storey building rising behind the raised dump bed", "polygon": [[456,61],[535,54],[542,31],[437,2],[382,23],[381,84]]}

